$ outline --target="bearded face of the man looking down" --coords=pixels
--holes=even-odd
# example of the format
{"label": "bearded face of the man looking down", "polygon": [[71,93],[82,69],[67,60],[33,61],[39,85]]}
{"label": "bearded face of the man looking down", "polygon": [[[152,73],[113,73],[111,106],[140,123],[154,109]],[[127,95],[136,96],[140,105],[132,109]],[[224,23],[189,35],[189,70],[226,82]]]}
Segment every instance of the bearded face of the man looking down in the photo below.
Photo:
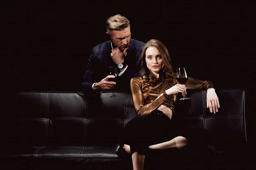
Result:
{"label": "bearded face of the man looking down", "polygon": [[124,51],[124,49],[129,46],[131,40],[130,26],[126,27],[122,31],[111,31],[109,37],[114,46],[118,47],[121,51]]}

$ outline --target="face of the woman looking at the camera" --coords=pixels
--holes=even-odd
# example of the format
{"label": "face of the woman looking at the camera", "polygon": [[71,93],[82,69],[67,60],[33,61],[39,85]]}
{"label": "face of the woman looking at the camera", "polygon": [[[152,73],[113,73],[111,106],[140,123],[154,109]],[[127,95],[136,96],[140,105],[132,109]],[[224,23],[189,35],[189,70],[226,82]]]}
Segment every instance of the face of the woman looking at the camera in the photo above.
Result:
{"label": "face of the woman looking at the camera", "polygon": [[148,69],[153,73],[159,74],[159,71],[163,68],[163,59],[160,56],[160,52],[156,47],[148,47],[145,54]]}

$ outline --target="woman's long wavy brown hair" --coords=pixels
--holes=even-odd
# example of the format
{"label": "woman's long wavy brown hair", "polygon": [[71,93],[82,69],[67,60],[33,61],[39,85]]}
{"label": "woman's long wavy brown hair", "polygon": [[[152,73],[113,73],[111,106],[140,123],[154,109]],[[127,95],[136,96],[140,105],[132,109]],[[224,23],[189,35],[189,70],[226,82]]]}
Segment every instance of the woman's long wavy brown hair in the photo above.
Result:
{"label": "woman's long wavy brown hair", "polygon": [[[160,52],[160,56],[163,59],[163,68],[159,71],[159,78],[154,76],[154,74],[148,69],[146,64],[146,50],[149,47],[155,47]],[[163,42],[160,42],[156,39],[149,40],[142,51],[142,54],[140,56],[140,65],[141,65],[141,76],[143,79],[148,80],[152,84],[157,84],[159,82],[163,82],[163,85],[170,86],[171,84],[177,84],[177,79],[175,77],[175,73],[173,72],[172,67],[172,60],[170,57],[170,54],[166,48],[166,46],[163,44]],[[170,84],[171,83],[171,84]]]}

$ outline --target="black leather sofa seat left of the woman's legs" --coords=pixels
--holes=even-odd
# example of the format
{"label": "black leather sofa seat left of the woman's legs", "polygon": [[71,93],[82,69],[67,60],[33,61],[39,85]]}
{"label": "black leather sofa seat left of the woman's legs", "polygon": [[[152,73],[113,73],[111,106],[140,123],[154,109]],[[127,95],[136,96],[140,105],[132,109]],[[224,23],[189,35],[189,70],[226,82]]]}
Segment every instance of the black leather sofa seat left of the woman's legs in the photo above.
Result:
{"label": "black leather sofa seat left of the woman's legs", "polygon": [[132,166],[131,159],[116,155],[116,147],[13,146],[1,149],[0,163],[17,170],[129,170]]}

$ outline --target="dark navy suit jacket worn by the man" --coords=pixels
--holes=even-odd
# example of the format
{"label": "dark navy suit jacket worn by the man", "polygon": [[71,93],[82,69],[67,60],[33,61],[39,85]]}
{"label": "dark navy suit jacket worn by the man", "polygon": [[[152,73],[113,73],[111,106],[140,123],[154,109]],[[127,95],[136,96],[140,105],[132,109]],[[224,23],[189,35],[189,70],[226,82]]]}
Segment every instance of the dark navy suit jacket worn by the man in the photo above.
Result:
{"label": "dark navy suit jacket worn by the man", "polygon": [[[133,77],[140,76],[140,55],[145,46],[144,42],[131,39],[129,49],[125,56],[125,62],[128,68],[119,77],[116,77],[115,91],[131,91],[130,81]],[[100,82],[108,76],[109,66],[116,66],[116,63],[111,59],[111,41],[106,41],[96,45],[87,61],[84,76],[82,79],[82,87],[85,92],[92,90],[92,85],[95,82]],[[117,67],[117,66],[116,66]],[[117,69],[119,71],[119,69]]]}

